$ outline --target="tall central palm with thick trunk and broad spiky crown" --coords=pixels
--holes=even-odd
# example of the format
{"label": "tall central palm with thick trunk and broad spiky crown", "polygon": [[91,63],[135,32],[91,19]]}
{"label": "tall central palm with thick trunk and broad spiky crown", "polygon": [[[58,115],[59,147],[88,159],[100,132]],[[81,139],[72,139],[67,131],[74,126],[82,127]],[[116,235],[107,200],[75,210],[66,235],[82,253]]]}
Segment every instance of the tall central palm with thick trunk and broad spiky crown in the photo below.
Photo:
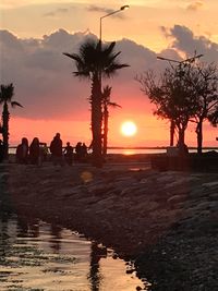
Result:
{"label": "tall central palm with thick trunk and broad spiky crown", "polygon": [[88,39],[81,45],[78,53],[63,53],[75,61],[77,71],[74,72],[74,75],[89,78],[92,82],[89,102],[92,111],[93,165],[96,167],[102,166],[101,76],[110,77],[117,72],[117,70],[129,66],[128,64],[121,64],[117,61],[117,57],[121,52],[114,52],[114,41],[102,46],[101,41]]}

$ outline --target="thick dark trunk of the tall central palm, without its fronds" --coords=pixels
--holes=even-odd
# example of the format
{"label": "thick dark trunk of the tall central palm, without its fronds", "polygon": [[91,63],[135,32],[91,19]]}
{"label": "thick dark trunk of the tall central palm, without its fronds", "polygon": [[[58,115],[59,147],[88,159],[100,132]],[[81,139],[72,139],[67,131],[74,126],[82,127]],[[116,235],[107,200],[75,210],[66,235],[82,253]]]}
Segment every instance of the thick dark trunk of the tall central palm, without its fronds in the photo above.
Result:
{"label": "thick dark trunk of the tall central palm, without its fronds", "polygon": [[101,123],[101,88],[99,78],[94,76],[92,85],[93,166],[97,168],[102,167]]}

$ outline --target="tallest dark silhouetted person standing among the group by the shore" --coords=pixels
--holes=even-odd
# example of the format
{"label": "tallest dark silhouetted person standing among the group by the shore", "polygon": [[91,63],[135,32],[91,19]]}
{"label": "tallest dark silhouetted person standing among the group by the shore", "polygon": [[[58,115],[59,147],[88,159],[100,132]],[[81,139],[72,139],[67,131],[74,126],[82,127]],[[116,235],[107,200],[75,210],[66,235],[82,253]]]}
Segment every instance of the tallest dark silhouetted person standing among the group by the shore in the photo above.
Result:
{"label": "tallest dark silhouetted person standing among the group by the shore", "polygon": [[61,141],[61,135],[60,133],[57,133],[50,143],[51,159],[53,161],[53,165],[63,166],[62,144],[63,143]]}

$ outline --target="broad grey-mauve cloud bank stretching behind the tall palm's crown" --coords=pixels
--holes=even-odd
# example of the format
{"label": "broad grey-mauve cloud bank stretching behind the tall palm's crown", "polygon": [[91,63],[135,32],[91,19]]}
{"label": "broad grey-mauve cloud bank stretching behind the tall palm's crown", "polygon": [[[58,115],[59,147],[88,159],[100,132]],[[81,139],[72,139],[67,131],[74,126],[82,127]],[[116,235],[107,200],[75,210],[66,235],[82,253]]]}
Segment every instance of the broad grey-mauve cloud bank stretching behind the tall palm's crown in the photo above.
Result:
{"label": "broad grey-mauve cloud bank stretching behind the tall palm's crown", "polygon": [[[162,28],[164,29],[164,28]],[[165,29],[164,29],[165,31]],[[193,54],[194,50],[207,56],[207,60],[218,58],[218,45],[205,37],[195,37],[184,26],[175,25],[166,29],[172,37],[172,46],[158,53],[171,59],[179,59],[178,50]],[[82,120],[89,114],[87,98],[90,95],[90,83],[80,81],[72,75],[75,71],[73,61],[62,52],[76,52],[87,38],[97,38],[90,33],[70,34],[59,29],[41,39],[21,39],[7,31],[0,31],[1,71],[0,84],[14,83],[15,99],[24,109],[14,110],[13,114],[31,119],[65,119]],[[121,63],[130,68],[121,70],[116,77],[104,81],[104,85],[112,86],[113,100],[123,110],[132,110],[132,100],[137,96],[140,110],[146,110],[148,100],[141,94],[136,74],[147,69],[161,71],[168,63],[157,60],[157,53],[137,45],[130,39],[117,43],[117,51]],[[138,108],[137,108],[138,110]]]}

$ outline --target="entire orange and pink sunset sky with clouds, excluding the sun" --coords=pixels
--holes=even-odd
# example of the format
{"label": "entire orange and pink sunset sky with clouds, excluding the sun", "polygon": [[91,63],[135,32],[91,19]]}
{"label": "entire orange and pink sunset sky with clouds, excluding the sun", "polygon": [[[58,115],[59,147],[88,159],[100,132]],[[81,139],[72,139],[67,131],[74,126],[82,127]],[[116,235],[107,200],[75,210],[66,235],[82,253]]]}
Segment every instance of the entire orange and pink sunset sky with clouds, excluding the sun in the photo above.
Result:
{"label": "entire orange and pink sunset sky with clouds, excluding the sun", "polygon": [[[87,38],[99,37],[100,17],[129,4],[130,9],[102,19],[102,40],[117,41],[120,62],[130,68],[104,85],[112,86],[110,146],[168,146],[169,123],[153,114],[135,76],[148,69],[161,71],[167,62],[203,53],[202,61],[218,60],[218,1],[130,0],[55,1],[1,0],[0,84],[13,83],[14,100],[23,108],[10,109],[10,144],[23,136],[49,143],[60,132],[64,143],[92,140],[90,83],[73,76],[74,63],[62,52],[77,52]],[[123,136],[121,124],[135,122],[137,133]],[[204,146],[218,146],[217,129],[204,124]],[[196,146],[194,126],[185,136]]]}

